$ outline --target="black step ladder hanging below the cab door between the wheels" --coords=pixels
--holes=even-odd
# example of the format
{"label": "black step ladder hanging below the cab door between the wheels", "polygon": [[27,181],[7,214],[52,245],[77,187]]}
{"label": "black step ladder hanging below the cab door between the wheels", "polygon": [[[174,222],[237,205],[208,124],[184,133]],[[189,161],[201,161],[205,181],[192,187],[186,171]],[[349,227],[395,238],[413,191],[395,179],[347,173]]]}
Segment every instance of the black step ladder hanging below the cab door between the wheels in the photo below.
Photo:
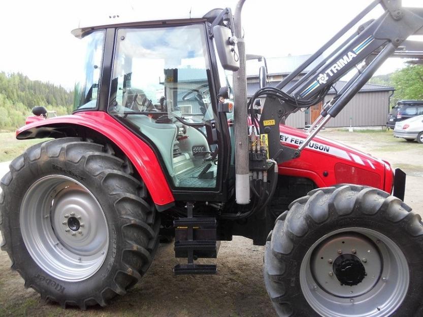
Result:
{"label": "black step ladder hanging below the cab door between the wheels", "polygon": [[187,218],[178,218],[175,227],[175,256],[187,258],[187,264],[177,264],[173,272],[183,274],[216,274],[215,264],[194,264],[197,258],[216,258],[216,218],[193,218],[193,203],[186,204]]}

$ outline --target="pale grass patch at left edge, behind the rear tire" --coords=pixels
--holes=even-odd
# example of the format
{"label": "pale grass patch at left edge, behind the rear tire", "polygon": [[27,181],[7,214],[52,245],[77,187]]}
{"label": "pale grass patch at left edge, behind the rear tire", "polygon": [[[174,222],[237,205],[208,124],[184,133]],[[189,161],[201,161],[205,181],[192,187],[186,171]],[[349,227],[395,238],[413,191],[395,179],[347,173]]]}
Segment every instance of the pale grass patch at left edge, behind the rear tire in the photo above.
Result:
{"label": "pale grass patch at left edge, behind the rear tire", "polygon": [[46,139],[17,140],[15,132],[0,133],[0,162],[13,160],[27,148]]}

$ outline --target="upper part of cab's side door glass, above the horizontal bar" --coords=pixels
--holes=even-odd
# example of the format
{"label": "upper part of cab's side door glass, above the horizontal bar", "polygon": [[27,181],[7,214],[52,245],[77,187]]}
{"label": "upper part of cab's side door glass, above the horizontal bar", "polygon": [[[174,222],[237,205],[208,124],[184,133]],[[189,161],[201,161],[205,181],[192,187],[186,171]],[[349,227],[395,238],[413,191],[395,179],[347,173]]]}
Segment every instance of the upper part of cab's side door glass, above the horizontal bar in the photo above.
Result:
{"label": "upper part of cab's side door glass, above the horizontal bar", "polygon": [[203,28],[119,29],[109,111],[213,118]]}

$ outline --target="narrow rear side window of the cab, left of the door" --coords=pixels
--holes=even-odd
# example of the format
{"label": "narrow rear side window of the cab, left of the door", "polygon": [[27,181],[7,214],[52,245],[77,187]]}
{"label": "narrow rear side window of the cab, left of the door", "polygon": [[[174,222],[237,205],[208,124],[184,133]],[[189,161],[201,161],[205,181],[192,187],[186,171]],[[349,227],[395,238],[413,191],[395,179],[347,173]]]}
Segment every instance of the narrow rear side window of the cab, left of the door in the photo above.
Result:
{"label": "narrow rear side window of the cab, left of the door", "polygon": [[75,84],[74,111],[95,109],[100,85],[105,31],[88,34],[81,40],[80,60],[83,61],[83,72]]}

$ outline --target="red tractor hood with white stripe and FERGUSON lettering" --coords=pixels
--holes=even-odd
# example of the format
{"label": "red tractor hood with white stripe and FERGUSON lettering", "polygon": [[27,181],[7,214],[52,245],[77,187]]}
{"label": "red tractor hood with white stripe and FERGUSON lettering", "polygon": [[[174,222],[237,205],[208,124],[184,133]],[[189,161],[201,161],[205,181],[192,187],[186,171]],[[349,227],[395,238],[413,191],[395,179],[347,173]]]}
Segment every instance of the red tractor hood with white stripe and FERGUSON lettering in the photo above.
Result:
{"label": "red tractor hood with white stripe and FERGUSON lettering", "polygon": [[[307,133],[280,125],[283,145],[298,148]],[[339,183],[368,185],[387,192],[392,189],[392,169],[389,164],[325,137],[314,137],[301,156],[279,164],[279,173],[312,179],[317,186]]]}

